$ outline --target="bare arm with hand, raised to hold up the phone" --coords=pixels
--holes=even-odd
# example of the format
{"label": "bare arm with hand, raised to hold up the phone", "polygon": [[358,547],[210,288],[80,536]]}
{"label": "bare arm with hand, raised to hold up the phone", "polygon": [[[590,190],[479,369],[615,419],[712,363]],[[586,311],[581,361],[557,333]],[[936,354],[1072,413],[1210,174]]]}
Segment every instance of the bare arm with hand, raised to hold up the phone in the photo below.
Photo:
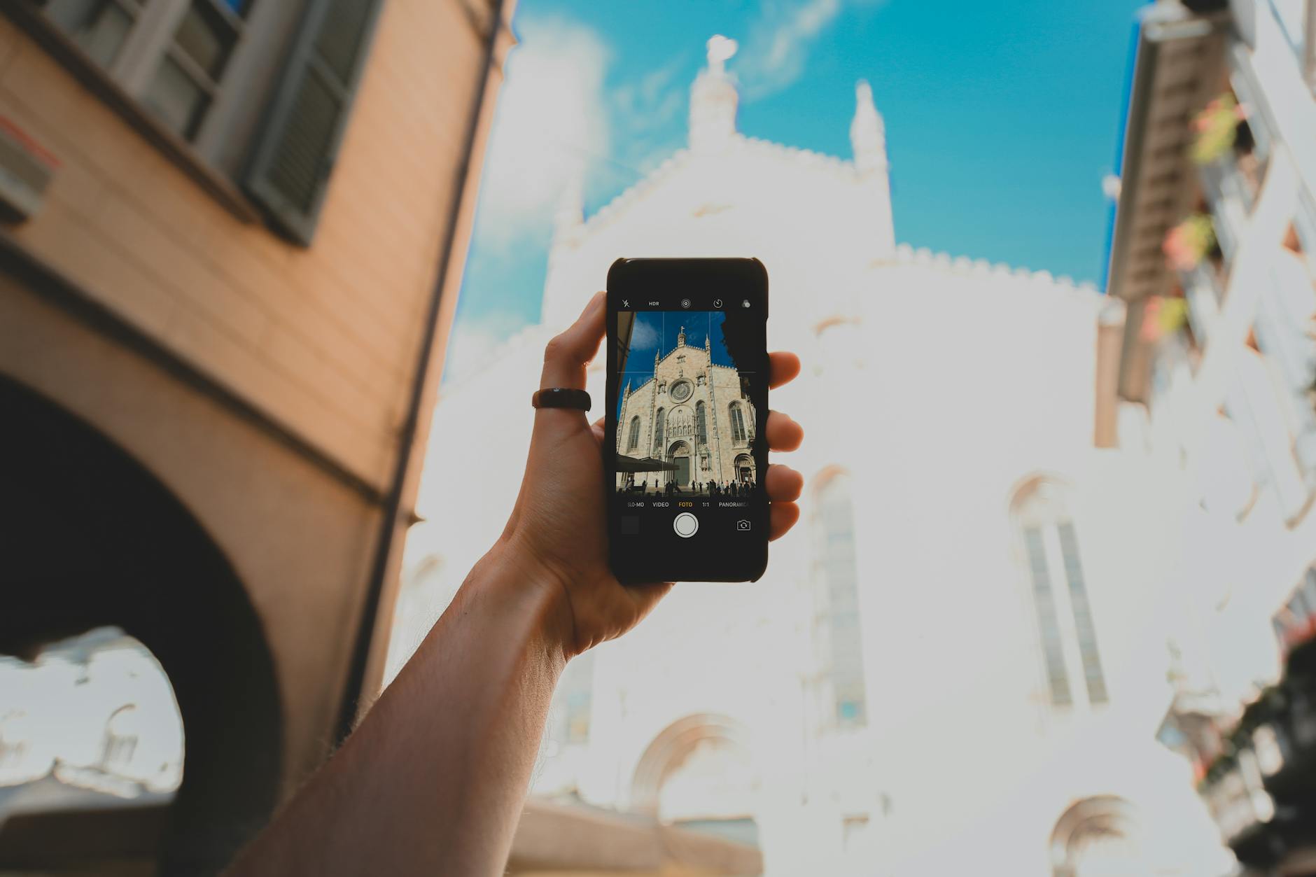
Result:
{"label": "bare arm with hand, raised to hold up the phone", "polygon": [[[542,387],[584,387],[604,313],[600,294],[549,344]],[[794,356],[772,354],[774,385],[797,371]],[[501,873],[563,666],[628,631],[671,587],[622,586],[608,569],[601,424],[563,408],[534,417],[503,536],[233,874]],[[770,415],[770,448],[794,449],[801,436]],[[769,467],[770,536],[797,519],[801,485],[797,473]]]}

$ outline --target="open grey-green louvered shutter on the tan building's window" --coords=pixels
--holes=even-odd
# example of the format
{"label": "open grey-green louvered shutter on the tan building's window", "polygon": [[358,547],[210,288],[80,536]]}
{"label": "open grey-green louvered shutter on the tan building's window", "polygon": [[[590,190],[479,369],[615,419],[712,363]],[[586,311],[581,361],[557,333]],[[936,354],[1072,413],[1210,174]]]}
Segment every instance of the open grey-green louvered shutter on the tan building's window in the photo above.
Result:
{"label": "open grey-green louvered shutter on the tan building's window", "polygon": [[309,245],[383,0],[308,0],[243,178],[274,225]]}

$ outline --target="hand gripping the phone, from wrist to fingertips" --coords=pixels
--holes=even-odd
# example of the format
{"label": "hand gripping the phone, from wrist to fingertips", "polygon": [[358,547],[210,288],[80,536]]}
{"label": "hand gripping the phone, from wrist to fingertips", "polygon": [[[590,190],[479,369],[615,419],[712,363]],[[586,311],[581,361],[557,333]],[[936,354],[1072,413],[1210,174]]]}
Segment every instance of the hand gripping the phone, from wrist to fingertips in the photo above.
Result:
{"label": "hand gripping the phone, from wrist to fingertips", "polygon": [[[599,352],[605,319],[605,298],[599,292],[575,324],[549,342],[540,387],[584,388],[586,366]],[[772,353],[770,363],[770,387],[800,373],[794,353]],[[804,438],[803,428],[776,411],[769,413],[765,435],[771,450],[795,450]],[[550,636],[567,657],[629,631],[672,586],[621,585],[612,574],[601,453],[601,417],[590,424],[583,411],[536,411],[525,478],[500,541],[512,564],[534,570],[529,578],[554,591]],[[799,520],[795,500],[804,478],[772,464],[763,483],[771,502],[769,539],[778,539]]]}

